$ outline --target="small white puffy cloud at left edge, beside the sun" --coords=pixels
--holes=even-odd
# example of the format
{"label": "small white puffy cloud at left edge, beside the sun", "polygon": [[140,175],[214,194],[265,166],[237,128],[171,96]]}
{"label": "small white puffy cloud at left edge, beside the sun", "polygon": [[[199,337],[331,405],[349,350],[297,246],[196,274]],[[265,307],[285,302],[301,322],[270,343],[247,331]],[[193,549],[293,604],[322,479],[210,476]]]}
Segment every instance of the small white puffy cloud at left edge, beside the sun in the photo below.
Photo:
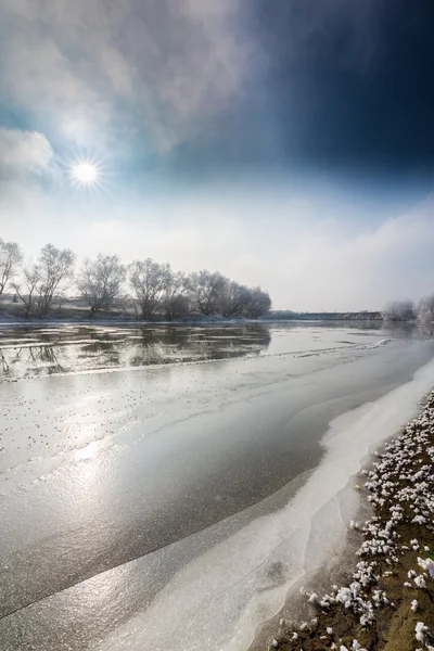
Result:
{"label": "small white puffy cloud at left edge, beside the sun", "polygon": [[42,133],[0,128],[0,170],[3,178],[47,174],[52,159],[53,149]]}

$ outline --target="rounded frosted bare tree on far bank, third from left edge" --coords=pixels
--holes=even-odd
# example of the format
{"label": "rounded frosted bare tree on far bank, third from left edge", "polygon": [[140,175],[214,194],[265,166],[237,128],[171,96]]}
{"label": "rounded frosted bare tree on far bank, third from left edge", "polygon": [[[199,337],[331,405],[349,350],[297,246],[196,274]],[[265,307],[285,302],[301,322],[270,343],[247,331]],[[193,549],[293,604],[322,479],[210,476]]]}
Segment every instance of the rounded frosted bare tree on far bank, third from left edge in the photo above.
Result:
{"label": "rounded frosted bare tree on far bank, third from left edge", "polygon": [[86,260],[78,276],[77,286],[93,314],[108,311],[122,295],[126,268],[117,255],[99,254],[95,260]]}

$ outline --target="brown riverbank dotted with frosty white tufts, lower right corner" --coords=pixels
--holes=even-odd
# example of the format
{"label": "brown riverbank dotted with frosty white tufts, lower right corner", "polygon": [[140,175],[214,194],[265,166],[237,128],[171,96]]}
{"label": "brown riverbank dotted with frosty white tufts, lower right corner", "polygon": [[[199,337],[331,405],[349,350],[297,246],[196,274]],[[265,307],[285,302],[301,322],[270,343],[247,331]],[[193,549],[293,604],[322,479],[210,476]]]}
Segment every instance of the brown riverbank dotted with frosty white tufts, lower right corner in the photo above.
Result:
{"label": "brown riverbank dotted with frosty white tufts, lower right corner", "polygon": [[362,536],[353,576],[327,595],[305,590],[311,618],[281,620],[269,649],[434,648],[434,392],[361,476],[373,514],[349,523]]}

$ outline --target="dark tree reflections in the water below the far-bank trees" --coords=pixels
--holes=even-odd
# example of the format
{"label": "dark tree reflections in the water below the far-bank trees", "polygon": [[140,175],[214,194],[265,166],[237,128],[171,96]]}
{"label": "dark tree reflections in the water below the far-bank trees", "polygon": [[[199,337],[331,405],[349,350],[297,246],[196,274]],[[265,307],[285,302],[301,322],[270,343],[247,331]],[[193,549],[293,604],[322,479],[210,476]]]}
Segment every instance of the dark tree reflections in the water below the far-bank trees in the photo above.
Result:
{"label": "dark tree reflections in the water below the far-bank trees", "polygon": [[7,328],[0,333],[0,376],[30,378],[231,359],[260,355],[270,341],[269,327],[260,323],[240,327]]}

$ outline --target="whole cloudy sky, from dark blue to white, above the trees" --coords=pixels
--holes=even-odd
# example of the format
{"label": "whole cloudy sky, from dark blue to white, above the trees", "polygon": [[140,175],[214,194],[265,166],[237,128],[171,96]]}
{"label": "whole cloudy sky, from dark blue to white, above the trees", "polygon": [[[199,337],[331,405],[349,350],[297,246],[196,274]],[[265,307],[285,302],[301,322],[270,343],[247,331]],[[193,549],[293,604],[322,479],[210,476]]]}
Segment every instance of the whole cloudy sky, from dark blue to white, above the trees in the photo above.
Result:
{"label": "whole cloudy sky, from dark blue to white, above the trees", "polygon": [[433,29],[432,0],[2,0],[0,237],[277,309],[432,293]]}

